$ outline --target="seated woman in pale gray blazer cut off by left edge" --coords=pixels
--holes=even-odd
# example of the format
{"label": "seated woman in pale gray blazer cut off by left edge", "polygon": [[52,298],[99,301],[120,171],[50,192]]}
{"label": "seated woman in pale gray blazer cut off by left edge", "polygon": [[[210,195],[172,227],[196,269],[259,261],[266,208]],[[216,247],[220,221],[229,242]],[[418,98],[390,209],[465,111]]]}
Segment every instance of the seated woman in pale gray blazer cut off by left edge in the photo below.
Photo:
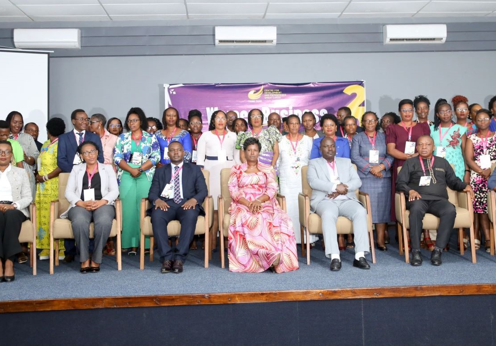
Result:
{"label": "seated woman in pale gray blazer cut off by left edge", "polygon": [[[15,254],[21,252],[19,233],[29,218],[28,206],[33,200],[26,171],[12,166],[12,145],[0,141],[0,282],[12,282]],[[8,227],[7,227],[8,225]],[[36,256],[36,254],[35,254]]]}

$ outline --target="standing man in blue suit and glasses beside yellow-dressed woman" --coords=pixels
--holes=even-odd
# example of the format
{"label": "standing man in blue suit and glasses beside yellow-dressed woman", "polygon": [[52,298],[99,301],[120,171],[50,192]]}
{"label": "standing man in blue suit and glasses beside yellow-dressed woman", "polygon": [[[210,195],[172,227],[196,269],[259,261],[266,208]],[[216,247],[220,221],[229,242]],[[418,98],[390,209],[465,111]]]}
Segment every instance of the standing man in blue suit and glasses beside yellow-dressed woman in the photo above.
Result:
{"label": "standing man in blue suit and glasses beside yellow-dressed woman", "polygon": [[[70,171],[72,171],[72,166],[81,163],[81,159],[76,153],[76,150],[78,145],[84,141],[92,141],[98,145],[98,162],[103,164],[102,141],[98,135],[86,131],[89,123],[89,117],[86,112],[80,109],[75,110],[71,113],[70,119],[74,129],[59,136],[57,166],[62,170],[62,173],[70,173]],[[74,260],[76,254],[74,239],[65,239],[64,247],[65,258],[63,261],[70,263]]]}

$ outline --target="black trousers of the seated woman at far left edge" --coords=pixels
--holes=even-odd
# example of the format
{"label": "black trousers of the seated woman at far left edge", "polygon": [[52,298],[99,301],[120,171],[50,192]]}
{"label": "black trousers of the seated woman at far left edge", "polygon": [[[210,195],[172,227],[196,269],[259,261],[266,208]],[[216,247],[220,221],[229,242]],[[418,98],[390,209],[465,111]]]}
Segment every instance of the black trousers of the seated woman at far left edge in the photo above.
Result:
{"label": "black trousers of the seated woman at far left edge", "polygon": [[19,233],[26,216],[20,210],[0,212],[0,258],[14,260],[15,254],[22,251]]}

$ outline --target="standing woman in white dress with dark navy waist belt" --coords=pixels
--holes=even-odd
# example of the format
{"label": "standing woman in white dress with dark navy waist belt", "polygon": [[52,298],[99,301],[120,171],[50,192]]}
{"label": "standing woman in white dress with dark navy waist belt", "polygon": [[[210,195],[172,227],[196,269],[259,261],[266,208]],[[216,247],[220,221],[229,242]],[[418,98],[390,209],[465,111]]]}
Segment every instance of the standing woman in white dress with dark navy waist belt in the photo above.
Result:
{"label": "standing woman in white dress with dark navy waist belt", "polygon": [[217,196],[220,195],[220,171],[240,164],[235,155],[237,136],[226,129],[227,116],[223,111],[215,111],[210,117],[208,131],[198,139],[196,165],[210,172],[210,194],[214,199],[214,220],[210,231],[212,249],[217,248],[219,228]]}

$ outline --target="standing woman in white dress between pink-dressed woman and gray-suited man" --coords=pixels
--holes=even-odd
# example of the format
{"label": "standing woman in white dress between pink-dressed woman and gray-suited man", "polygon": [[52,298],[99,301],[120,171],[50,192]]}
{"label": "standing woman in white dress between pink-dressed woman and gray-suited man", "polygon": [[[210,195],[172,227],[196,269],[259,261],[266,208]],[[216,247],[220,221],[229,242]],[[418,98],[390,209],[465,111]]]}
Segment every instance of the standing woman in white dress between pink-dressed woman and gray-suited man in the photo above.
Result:
{"label": "standing woman in white dress between pink-dressed woman and gray-suited man", "polygon": [[[279,187],[281,194],[286,197],[287,213],[293,222],[295,238],[301,244],[300,219],[298,212],[298,193],[302,191],[302,167],[308,165],[313,139],[298,133],[300,130],[298,115],[288,116],[289,133],[279,142]],[[310,242],[318,240],[316,235],[310,235]]]}

